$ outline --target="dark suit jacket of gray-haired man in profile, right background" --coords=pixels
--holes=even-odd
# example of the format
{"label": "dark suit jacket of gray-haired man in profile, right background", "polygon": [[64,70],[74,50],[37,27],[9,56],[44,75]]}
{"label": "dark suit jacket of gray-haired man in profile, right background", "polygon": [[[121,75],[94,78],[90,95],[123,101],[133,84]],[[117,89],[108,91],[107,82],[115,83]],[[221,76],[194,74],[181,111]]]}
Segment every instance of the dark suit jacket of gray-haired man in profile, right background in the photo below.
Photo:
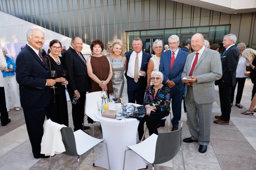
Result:
{"label": "dark suit jacket of gray-haired man in profile, right background", "polygon": [[222,80],[224,80],[227,85],[236,85],[236,67],[238,61],[239,50],[233,45],[221,56],[222,77],[215,81],[215,85],[218,85]]}

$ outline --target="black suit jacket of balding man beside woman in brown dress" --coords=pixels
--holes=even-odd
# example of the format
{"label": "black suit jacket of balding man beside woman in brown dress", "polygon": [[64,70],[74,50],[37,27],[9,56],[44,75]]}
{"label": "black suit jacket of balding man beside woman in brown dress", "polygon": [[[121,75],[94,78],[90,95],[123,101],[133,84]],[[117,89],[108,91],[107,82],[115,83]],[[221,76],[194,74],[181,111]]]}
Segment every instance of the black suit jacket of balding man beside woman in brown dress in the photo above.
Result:
{"label": "black suit jacket of balding man beside woman in brown dress", "polygon": [[63,61],[64,68],[67,70],[67,91],[78,90],[79,93],[90,91],[91,82],[87,74],[87,67],[77,52],[70,47],[64,53]]}

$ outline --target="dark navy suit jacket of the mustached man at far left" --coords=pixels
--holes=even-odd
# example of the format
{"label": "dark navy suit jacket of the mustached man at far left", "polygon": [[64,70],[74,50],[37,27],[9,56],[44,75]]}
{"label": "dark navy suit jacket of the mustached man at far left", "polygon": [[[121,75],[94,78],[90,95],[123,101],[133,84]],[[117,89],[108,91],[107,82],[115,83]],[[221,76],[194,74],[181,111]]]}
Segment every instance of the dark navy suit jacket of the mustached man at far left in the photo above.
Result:
{"label": "dark navy suit jacket of the mustached man at far left", "polygon": [[17,56],[16,79],[20,87],[20,103],[25,109],[46,108],[51,91],[46,86],[49,68],[28,45]]}

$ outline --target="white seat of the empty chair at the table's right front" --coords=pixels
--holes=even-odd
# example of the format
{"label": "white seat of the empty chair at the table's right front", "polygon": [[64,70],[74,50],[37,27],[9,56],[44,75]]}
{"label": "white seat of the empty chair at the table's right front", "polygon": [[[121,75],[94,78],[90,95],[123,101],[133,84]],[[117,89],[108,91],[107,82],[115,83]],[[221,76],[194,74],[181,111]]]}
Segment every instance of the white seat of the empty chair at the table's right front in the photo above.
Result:
{"label": "white seat of the empty chair at the table's right front", "polygon": [[143,142],[128,146],[128,148],[130,148],[135,153],[140,155],[143,159],[145,159],[150,164],[152,164],[154,162],[156,144],[157,144],[157,135],[153,133]]}

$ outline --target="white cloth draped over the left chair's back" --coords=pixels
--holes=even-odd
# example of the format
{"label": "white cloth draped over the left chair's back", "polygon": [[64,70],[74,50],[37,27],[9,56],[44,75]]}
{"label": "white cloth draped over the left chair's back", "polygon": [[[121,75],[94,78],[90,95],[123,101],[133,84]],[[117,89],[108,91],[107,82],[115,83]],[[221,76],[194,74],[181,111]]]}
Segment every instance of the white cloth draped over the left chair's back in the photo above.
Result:
{"label": "white cloth draped over the left chair's back", "polygon": [[54,156],[65,152],[65,146],[62,142],[61,128],[67,127],[48,119],[45,123],[45,132],[41,142],[41,154]]}

